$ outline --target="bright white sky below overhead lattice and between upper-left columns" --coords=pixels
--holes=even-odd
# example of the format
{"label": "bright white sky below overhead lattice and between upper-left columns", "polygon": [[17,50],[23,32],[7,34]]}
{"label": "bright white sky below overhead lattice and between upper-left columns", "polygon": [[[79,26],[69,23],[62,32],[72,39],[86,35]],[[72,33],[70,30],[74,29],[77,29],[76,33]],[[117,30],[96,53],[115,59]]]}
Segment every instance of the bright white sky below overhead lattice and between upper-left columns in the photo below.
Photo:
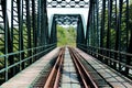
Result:
{"label": "bright white sky below overhead lattice and between upper-left columns", "polygon": [[[8,0],[8,15],[9,21],[11,21],[11,0]],[[85,23],[87,23],[88,8],[47,8],[48,20],[52,14],[81,14],[85,18]],[[11,22],[9,22],[11,25]]]}

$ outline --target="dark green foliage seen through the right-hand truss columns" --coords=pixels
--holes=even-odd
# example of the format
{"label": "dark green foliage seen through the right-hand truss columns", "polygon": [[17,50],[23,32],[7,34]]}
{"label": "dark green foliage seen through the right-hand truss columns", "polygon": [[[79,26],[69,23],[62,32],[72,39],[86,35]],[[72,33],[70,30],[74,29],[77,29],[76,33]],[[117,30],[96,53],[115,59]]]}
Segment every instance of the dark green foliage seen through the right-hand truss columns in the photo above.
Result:
{"label": "dark green foliage seen through the right-hand truss columns", "polygon": [[[105,30],[103,30],[103,47],[107,47],[107,32],[108,32],[108,8],[106,8],[106,12],[105,12]],[[117,36],[117,19],[114,15],[117,15],[119,18],[119,13],[120,13],[120,9],[117,8],[117,14],[116,14],[116,9],[112,8],[112,13],[111,13],[111,23],[110,23],[110,36],[108,36],[110,38],[109,41],[109,48],[114,50],[116,47],[116,36]],[[129,23],[127,22],[127,3],[123,3],[122,6],[122,12],[121,12],[121,24],[119,25],[120,28],[120,51],[124,52],[127,51],[127,46],[128,46],[128,40],[130,42],[130,36],[131,36],[131,26],[132,26],[132,1],[130,1],[130,6],[129,6]],[[101,14],[102,12],[99,13],[99,19],[101,20]],[[129,28],[127,28],[127,25],[129,24]],[[101,29],[101,28],[100,28]],[[129,37],[128,37],[128,33],[129,33]]]}

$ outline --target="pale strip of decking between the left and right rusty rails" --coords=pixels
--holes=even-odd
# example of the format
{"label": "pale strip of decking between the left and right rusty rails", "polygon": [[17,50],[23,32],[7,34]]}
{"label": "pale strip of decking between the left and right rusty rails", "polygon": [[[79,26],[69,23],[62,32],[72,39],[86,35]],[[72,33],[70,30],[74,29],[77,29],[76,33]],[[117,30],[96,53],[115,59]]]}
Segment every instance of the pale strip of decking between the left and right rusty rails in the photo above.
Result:
{"label": "pale strip of decking between the left and right rusty rails", "polygon": [[81,88],[68,48],[65,51],[61,88]]}

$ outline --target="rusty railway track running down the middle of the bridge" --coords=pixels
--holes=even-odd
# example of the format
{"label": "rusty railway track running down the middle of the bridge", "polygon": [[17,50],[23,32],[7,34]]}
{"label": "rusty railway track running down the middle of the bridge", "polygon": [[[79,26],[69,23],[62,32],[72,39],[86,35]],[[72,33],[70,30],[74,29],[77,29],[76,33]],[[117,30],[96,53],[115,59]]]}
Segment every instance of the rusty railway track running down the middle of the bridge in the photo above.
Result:
{"label": "rusty railway track running down the middle of the bridge", "polygon": [[[68,51],[69,59],[66,57],[65,50],[66,50],[66,52]],[[70,75],[76,74],[77,82],[74,82],[74,84],[78,85],[76,88],[100,88],[100,87],[102,88],[102,86],[99,86],[99,84],[95,81],[92,76],[90,76],[90,74],[88,73],[88,69],[86,67],[87,65],[84,65],[85,63],[80,58],[81,58],[80,55],[78,55],[78,53],[74,48],[62,47],[59,51],[59,55],[56,58],[56,62],[54,63],[54,65],[51,68],[47,69],[48,74],[46,73],[46,75],[44,77],[45,79],[42,79],[43,77],[40,77],[41,84],[43,84],[43,85],[41,87],[34,86],[34,88],[69,88],[69,87],[65,87],[65,86],[63,87],[63,85],[64,85],[63,80],[65,80],[63,78],[63,76],[66,75],[67,73]],[[73,64],[73,66],[75,68],[75,72],[73,70],[74,74],[69,70],[64,69],[64,64],[67,64],[66,62],[64,63],[64,59],[73,61],[70,63]],[[66,72],[66,74],[62,73],[64,70]],[[72,82],[73,81],[68,81],[68,84],[72,84]],[[37,85],[37,82],[36,82],[36,85]],[[111,88],[108,84],[107,84],[107,86],[103,86],[103,87]],[[74,88],[74,87],[70,87],[70,88]]]}

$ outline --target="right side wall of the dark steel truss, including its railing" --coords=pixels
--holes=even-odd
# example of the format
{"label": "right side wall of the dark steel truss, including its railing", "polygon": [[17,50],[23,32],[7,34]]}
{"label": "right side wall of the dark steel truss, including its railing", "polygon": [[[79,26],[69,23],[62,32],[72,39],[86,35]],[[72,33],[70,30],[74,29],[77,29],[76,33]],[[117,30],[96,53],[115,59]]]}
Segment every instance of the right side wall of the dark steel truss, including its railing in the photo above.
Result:
{"label": "right side wall of the dark steel truss, including its railing", "polygon": [[[87,44],[80,44],[99,61],[132,78],[130,0],[90,0]],[[131,3],[132,4],[132,3]]]}

